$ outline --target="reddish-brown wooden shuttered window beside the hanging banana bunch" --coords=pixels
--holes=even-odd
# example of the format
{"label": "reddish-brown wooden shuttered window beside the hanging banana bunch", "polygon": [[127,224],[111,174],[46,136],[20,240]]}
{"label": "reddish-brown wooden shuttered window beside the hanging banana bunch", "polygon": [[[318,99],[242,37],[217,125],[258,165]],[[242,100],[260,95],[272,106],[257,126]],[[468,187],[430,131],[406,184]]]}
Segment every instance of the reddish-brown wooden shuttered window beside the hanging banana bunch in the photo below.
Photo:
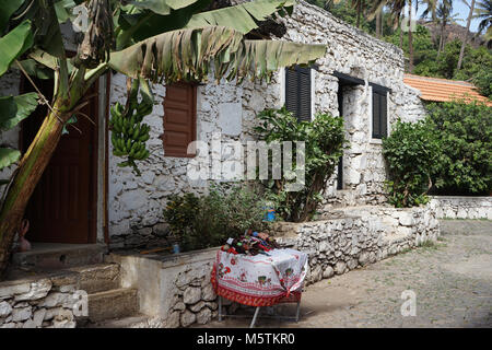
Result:
{"label": "reddish-brown wooden shuttered window beside the hanging banana bunch", "polygon": [[164,98],[164,133],[162,136],[165,156],[192,158],[188,144],[197,139],[197,86],[174,83],[166,86]]}

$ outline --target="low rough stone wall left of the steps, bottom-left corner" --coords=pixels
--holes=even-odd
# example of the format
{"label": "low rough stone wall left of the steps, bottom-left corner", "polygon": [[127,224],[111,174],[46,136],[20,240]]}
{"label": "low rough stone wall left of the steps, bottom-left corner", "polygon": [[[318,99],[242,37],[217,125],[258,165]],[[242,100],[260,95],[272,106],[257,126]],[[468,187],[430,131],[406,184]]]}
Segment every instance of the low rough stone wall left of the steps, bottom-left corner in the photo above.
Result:
{"label": "low rough stone wall left of the steps, bottom-left corner", "polygon": [[74,328],[77,295],[62,277],[0,282],[0,328]]}

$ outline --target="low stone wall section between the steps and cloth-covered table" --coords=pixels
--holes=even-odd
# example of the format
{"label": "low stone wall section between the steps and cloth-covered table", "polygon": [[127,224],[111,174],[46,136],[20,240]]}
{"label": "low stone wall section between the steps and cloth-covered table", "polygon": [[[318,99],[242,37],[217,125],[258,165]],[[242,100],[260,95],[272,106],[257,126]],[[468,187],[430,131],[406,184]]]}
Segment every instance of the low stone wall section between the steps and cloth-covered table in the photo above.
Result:
{"label": "low stone wall section between the steps and cloth-covered table", "polygon": [[120,265],[124,288],[139,289],[140,312],[152,316],[153,327],[188,327],[218,315],[210,281],[218,249],[167,256],[112,254],[107,260]]}

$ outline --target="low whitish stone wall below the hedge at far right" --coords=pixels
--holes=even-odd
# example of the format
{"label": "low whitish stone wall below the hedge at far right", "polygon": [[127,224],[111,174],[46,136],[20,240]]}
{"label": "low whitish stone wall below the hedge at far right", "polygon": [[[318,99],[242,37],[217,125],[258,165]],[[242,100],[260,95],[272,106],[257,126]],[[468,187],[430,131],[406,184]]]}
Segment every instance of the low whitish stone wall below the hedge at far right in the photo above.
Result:
{"label": "low whitish stone wall below the hedge at far right", "polygon": [[438,219],[492,220],[492,197],[434,196],[430,206]]}

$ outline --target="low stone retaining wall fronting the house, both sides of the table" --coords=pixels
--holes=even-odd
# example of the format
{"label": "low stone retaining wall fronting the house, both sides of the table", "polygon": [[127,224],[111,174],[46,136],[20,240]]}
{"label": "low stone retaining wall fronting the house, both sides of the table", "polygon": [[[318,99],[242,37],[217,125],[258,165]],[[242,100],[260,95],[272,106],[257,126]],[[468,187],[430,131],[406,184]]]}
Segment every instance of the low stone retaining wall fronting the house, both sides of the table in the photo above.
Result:
{"label": "low stone retaining wall fronting the house, both sides of the table", "polygon": [[[279,223],[276,238],[309,255],[307,283],[344,273],[405,249],[434,241],[440,235],[435,212],[427,206],[412,209],[353,207],[340,218]],[[179,255],[117,255],[109,262],[121,266],[124,288],[138,288],[140,311],[154,327],[207,324],[218,315],[216,295],[210,282],[219,247]],[[225,302],[234,313],[236,303]]]}

